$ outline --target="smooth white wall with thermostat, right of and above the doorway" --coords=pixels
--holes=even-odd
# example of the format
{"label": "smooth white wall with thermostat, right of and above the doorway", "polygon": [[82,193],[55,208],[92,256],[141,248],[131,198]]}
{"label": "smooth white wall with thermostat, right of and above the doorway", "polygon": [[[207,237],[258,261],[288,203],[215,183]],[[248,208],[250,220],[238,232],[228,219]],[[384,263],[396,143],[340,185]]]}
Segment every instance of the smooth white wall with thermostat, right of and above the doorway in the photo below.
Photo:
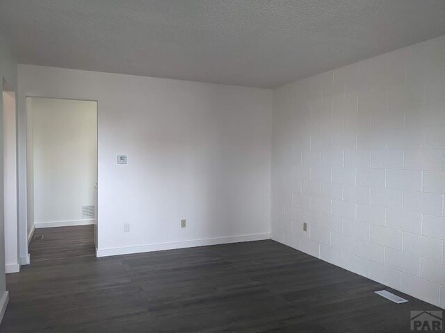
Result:
{"label": "smooth white wall with thermostat, right of and above the doorway", "polygon": [[270,90],[19,65],[25,96],[98,101],[99,255],[269,237]]}

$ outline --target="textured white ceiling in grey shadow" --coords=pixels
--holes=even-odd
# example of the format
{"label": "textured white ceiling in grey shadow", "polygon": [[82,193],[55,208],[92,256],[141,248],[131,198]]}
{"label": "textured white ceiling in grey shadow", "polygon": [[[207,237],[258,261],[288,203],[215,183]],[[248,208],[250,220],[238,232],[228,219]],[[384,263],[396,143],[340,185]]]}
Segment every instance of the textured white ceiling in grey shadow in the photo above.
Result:
{"label": "textured white ceiling in grey shadow", "polygon": [[444,0],[0,0],[20,63],[277,87],[445,35]]}

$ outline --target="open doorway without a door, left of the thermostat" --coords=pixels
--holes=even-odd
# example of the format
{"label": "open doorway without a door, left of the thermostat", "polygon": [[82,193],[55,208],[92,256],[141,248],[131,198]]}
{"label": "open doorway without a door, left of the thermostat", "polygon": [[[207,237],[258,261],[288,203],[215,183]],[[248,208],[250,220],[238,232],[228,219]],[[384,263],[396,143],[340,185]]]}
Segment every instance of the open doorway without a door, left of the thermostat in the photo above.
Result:
{"label": "open doorway without a door, left of the thermostat", "polygon": [[26,97],[31,261],[95,256],[97,101]]}

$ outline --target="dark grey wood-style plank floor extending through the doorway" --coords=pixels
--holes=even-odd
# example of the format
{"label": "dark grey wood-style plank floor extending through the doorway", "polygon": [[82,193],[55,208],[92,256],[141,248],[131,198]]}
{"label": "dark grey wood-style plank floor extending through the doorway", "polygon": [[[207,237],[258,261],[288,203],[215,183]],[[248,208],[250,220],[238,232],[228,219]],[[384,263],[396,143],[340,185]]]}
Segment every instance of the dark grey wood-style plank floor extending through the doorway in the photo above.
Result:
{"label": "dark grey wood-style plank floor extending through the doorway", "polygon": [[409,332],[437,309],[275,241],[97,259],[88,228],[39,230],[0,332]]}

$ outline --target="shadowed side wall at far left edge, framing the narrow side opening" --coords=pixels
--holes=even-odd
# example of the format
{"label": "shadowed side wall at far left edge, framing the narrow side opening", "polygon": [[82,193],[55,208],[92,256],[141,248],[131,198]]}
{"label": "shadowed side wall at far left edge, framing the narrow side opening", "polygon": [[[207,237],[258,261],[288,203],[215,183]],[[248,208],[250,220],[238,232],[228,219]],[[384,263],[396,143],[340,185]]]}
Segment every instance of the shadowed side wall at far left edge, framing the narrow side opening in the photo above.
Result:
{"label": "shadowed side wall at far left edge, framing the narrow side opening", "polygon": [[[5,86],[7,83],[7,86]],[[0,92],[16,91],[17,62],[0,33]],[[0,94],[0,189],[3,189],[3,94]],[[5,274],[3,191],[0,191],[0,321],[8,304]]]}

